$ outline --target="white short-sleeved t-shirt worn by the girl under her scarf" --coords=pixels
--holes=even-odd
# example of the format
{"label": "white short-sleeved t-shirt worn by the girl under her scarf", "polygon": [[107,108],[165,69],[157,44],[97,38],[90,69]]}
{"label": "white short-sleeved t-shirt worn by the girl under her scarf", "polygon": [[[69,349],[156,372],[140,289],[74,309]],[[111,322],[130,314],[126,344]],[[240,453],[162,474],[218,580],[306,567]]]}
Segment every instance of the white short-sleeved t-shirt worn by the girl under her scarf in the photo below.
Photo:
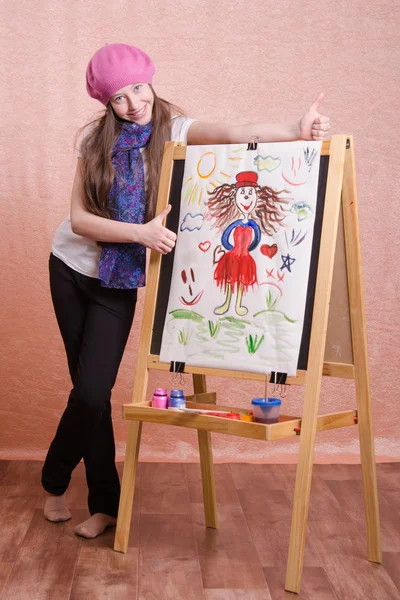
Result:
{"label": "white short-sleeved t-shirt worn by the girl under her scarf", "polygon": [[[186,144],[187,133],[194,119],[176,116],[171,123],[171,141]],[[143,150],[143,149],[142,149]],[[143,154],[143,165],[146,173],[146,159]],[[67,217],[58,227],[52,243],[52,253],[66,265],[88,277],[99,276],[101,248],[94,240],[73,233],[71,219]]]}

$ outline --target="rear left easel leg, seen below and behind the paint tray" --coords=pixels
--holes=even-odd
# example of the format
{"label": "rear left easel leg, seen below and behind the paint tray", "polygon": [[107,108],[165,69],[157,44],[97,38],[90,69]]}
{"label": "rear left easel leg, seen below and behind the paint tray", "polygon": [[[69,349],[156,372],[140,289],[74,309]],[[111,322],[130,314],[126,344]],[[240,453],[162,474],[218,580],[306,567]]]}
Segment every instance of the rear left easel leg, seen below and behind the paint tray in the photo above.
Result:
{"label": "rear left easel leg, seen below and behind the paint tray", "polygon": [[[206,378],[204,375],[193,375],[193,388],[195,394],[201,394],[207,391]],[[209,431],[199,429],[197,435],[199,440],[205,522],[207,527],[216,529],[218,527],[218,516],[215,495],[211,433]]]}

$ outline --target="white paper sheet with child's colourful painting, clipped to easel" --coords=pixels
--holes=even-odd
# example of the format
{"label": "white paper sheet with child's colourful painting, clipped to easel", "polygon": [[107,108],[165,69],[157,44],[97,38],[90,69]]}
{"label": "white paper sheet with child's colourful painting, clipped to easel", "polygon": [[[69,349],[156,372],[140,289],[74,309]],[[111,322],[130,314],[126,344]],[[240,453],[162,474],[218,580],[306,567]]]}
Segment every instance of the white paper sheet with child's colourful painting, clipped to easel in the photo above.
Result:
{"label": "white paper sheet with child's colourful painting, clipped to easel", "polygon": [[320,145],[186,149],[162,361],[295,374]]}

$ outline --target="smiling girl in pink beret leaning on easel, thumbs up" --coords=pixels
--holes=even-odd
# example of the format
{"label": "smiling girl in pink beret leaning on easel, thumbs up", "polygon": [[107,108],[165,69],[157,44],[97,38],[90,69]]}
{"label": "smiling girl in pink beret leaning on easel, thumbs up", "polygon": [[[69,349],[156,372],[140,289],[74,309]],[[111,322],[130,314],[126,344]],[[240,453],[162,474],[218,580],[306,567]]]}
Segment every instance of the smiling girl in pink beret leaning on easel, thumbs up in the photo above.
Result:
{"label": "smiling girl in pink beret leaning on easel, thumbs up", "polygon": [[115,525],[120,484],[115,467],[111,391],[131,328],[137,288],[145,284],[145,252],[170,252],[176,236],[154,216],[164,142],[230,144],[322,140],[329,119],[320,94],[293,125],[216,125],[188,119],[159,98],[151,59],[133,46],[110,44],[89,62],[86,87],[104,106],[81,143],[70,218],[50,255],[50,287],[64,341],[72,390],[43,467],[50,521],[71,518],[65,492],[83,458],[91,517],[78,535]]}

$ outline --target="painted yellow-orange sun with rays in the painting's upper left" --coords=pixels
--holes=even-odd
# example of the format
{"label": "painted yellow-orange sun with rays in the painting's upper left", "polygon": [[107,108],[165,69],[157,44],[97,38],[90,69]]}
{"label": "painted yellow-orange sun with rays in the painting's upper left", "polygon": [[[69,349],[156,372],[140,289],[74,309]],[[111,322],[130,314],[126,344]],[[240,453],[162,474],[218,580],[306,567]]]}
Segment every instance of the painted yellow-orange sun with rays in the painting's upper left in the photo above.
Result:
{"label": "painted yellow-orange sun with rays in the painting's upper left", "polygon": [[[204,152],[197,162],[192,177],[188,177],[183,184],[184,201],[189,204],[201,206],[202,201],[207,199],[209,192],[223,183],[233,183],[235,169],[239,169],[244,160],[246,148],[232,150],[236,156],[228,157],[228,164],[218,158],[215,152]],[[242,154],[243,156],[240,156]],[[224,163],[224,164],[222,164]],[[231,173],[229,173],[231,171]]]}

